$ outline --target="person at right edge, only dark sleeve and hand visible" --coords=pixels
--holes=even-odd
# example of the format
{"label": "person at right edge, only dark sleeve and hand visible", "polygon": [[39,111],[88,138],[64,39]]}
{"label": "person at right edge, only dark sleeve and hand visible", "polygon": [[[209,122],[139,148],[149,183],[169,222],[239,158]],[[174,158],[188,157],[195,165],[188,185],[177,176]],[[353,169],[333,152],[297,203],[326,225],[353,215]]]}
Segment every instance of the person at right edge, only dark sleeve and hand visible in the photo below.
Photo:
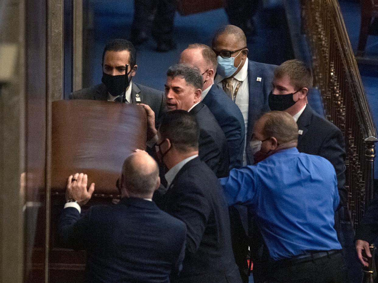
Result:
{"label": "person at right edge, only dark sleeve and hand visible", "polygon": [[[374,243],[378,238],[378,195],[373,198],[367,208],[364,217],[356,231],[356,252],[359,260],[364,266],[369,266],[362,251],[365,251],[367,257],[372,257],[369,244]],[[377,262],[377,260],[376,260]]]}

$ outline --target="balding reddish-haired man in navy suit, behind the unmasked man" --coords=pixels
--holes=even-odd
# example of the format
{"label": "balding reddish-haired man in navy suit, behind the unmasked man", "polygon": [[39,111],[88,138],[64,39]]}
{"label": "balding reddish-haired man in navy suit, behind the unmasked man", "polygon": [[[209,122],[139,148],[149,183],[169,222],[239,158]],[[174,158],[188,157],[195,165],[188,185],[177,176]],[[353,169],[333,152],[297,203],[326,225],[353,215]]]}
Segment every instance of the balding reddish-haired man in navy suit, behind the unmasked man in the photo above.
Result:
{"label": "balding reddish-haired man in navy suit, behind the unmasked man", "polygon": [[222,131],[225,133],[230,157],[229,170],[243,165],[245,125],[242,112],[226,93],[214,85],[217,56],[209,46],[191,44],[181,52],[180,63],[197,67],[204,80],[201,101],[208,106]]}

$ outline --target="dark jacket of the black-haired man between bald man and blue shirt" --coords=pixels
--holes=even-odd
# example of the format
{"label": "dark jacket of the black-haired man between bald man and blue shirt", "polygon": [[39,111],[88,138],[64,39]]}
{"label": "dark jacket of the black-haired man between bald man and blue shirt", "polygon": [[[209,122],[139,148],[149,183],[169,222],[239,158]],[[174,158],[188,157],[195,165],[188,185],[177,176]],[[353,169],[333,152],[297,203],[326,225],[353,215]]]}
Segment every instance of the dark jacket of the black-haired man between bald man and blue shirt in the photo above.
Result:
{"label": "dark jacket of the black-haired man between bald man and blue shirt", "polygon": [[[214,172],[198,157],[177,173],[160,207],[186,224],[180,283],[240,283],[228,209]],[[169,234],[167,234],[169,235]]]}

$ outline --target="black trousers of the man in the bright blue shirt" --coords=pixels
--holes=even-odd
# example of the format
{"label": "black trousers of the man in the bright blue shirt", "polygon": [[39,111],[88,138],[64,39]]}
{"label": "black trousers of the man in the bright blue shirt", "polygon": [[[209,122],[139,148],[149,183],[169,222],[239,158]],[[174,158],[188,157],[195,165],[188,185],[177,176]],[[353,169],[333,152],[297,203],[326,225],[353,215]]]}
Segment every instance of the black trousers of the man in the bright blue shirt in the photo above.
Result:
{"label": "black trousers of the man in the bright blue shirt", "polygon": [[265,283],[348,283],[341,251],[298,264],[271,263]]}

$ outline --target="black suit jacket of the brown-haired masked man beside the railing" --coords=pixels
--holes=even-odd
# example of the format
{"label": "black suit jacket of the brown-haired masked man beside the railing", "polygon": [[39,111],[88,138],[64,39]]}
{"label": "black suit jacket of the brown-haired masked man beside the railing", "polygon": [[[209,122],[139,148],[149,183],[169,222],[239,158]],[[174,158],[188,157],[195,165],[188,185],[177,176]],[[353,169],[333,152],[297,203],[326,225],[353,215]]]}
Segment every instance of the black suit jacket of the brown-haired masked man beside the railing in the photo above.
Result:
{"label": "black suit jacket of the brown-haired masked man beside the railing", "polygon": [[298,151],[320,155],[330,161],[335,168],[340,195],[340,205],[347,203],[345,188],[345,141],[338,127],[320,117],[307,104],[297,121],[299,131]]}

